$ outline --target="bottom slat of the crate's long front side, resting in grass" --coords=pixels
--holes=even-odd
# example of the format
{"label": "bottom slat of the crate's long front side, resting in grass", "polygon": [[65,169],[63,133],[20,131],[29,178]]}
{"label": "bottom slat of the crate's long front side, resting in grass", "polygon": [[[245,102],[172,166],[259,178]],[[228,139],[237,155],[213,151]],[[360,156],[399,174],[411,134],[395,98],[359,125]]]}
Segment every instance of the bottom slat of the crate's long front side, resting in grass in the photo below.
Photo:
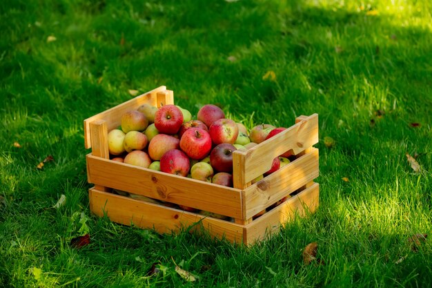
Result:
{"label": "bottom slat of the crate's long front side, resting in grass", "polygon": [[[155,229],[158,233],[172,233],[181,227],[189,227],[199,222],[211,236],[226,238],[230,242],[242,242],[243,226],[232,222],[204,217],[158,204],[134,200],[112,193],[89,190],[90,210],[99,217],[107,215],[120,224],[145,229]],[[199,227],[199,226],[198,226]],[[195,229],[196,230],[196,229]]]}

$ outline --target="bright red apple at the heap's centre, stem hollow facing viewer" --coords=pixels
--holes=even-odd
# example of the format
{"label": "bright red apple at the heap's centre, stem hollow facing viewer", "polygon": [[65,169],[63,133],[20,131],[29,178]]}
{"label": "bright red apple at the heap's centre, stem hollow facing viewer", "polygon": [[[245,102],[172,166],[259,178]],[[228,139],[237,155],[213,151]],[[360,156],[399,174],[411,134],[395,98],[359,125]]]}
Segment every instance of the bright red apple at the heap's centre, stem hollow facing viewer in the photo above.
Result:
{"label": "bright red apple at the heap's centre, stem hollow facing viewer", "polygon": [[180,148],[193,160],[200,160],[211,150],[211,138],[202,128],[189,128],[181,136]]}

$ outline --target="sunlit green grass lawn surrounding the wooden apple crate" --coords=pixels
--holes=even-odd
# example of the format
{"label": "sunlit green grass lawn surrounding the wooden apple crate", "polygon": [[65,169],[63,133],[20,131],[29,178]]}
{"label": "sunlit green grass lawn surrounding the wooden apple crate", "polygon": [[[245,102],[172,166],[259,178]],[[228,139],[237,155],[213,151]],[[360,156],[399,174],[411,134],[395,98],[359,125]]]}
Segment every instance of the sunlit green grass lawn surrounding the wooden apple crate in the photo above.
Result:
{"label": "sunlit green grass lawn surrounding the wooden apple crate", "polygon": [[[427,0],[2,1],[0,286],[429,287],[431,240],[415,252],[407,239],[432,236],[431,12]],[[249,127],[319,113],[320,209],[250,249],[91,215],[83,119],[161,85],[193,114],[217,103]],[[82,249],[69,244],[77,212]],[[303,264],[310,242],[325,265]],[[147,277],[158,261],[166,273]]]}

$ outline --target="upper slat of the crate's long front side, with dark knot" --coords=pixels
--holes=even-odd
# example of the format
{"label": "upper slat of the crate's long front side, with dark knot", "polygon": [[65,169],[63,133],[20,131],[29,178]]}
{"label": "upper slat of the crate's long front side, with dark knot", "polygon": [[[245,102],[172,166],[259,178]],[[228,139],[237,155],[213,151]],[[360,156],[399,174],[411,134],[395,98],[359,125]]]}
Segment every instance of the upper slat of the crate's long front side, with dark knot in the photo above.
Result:
{"label": "upper slat of the crate's long front side, with dark knot", "polygon": [[87,155],[90,183],[242,218],[242,191]]}

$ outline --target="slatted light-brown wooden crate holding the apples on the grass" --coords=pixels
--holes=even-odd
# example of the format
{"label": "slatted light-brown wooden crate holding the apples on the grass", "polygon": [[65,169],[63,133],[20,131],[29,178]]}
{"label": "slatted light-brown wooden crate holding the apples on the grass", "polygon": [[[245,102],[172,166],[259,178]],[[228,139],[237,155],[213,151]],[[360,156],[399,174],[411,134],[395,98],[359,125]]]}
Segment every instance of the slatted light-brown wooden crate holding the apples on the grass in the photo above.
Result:
{"label": "slatted light-brown wooden crate holding the apples on the grass", "polygon": [[[246,152],[235,151],[234,188],[228,188],[109,160],[108,131],[120,125],[126,111],[145,103],[157,107],[174,104],[173,91],[161,86],[84,120],[85,146],[92,148],[86,156],[88,182],[95,184],[89,191],[92,213],[159,233],[172,233],[198,223],[211,236],[252,244],[277,231],[296,213],[305,215],[317,209],[320,189],[313,182],[319,175],[318,149],[313,148],[318,142],[317,114],[297,117],[296,124],[282,133]],[[296,155],[294,161],[251,184],[270,169],[274,157],[288,150]],[[111,193],[112,189],[226,215],[233,220],[135,200]],[[253,219],[259,211],[290,194],[294,196]]]}

